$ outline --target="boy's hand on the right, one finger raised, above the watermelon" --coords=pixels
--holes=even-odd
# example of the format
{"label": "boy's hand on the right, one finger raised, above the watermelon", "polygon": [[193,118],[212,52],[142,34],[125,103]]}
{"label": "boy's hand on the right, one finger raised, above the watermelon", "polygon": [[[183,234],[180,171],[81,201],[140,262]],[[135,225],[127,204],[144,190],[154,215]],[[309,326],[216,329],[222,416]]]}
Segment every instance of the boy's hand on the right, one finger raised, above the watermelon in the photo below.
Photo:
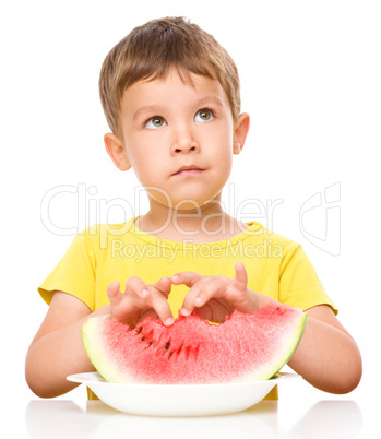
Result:
{"label": "boy's hand on the right, one finger raised, above the watermelon", "polygon": [[170,277],[174,285],[190,287],[180,312],[188,316],[198,313],[205,320],[224,322],[237,309],[254,312],[259,308],[257,293],[248,288],[248,274],[242,262],[237,262],[234,280],[225,276],[203,276],[199,273],[182,272]]}

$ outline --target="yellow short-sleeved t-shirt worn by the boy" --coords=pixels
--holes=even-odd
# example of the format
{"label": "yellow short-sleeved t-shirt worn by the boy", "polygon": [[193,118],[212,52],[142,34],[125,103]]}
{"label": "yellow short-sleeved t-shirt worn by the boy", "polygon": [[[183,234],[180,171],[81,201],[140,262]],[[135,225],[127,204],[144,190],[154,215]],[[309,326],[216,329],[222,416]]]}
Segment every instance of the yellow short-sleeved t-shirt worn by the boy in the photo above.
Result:
{"label": "yellow short-sleeved t-shirt worn by the boy", "polygon": [[[283,304],[306,310],[329,305],[337,310],[303,252],[301,246],[271,233],[257,222],[227,240],[207,244],[168,241],[139,229],[134,217],[117,225],[95,225],[78,234],[68,251],[38,288],[50,304],[55,290],[69,293],[92,311],[108,304],[107,286],[130,276],[154,284],[163,276],[181,271],[203,275],[235,276],[235,263],[242,261],[248,287]],[[188,292],[172,286],[168,297],[177,317]]]}

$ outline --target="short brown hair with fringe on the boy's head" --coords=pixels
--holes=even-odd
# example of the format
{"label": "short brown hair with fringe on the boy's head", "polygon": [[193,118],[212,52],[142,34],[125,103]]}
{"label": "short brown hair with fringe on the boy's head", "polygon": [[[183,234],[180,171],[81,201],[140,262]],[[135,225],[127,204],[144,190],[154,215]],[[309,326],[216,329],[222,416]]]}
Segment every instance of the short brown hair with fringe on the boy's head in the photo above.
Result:
{"label": "short brown hair with fringe on the boy's head", "polygon": [[223,86],[236,120],[240,112],[238,70],[214,37],[183,17],[153,20],[135,27],[107,55],[100,71],[100,100],[107,122],[119,130],[123,92],[141,80],[162,80],[176,68],[182,81],[190,73],[216,79]]}

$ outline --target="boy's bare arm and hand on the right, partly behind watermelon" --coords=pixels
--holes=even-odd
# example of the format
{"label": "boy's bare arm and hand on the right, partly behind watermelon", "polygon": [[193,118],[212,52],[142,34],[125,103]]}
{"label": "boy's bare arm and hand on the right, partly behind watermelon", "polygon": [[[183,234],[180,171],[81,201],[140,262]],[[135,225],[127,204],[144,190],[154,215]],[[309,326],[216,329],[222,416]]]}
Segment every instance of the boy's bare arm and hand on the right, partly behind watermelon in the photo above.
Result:
{"label": "boy's bare arm and hand on the right, partly behind watermelon", "polygon": [[[236,277],[202,276],[183,272],[172,276],[174,284],[190,286],[181,312],[224,321],[238,309],[254,312],[274,299],[247,287],[243,264],[236,265]],[[308,310],[305,333],[288,365],[315,388],[331,393],[347,393],[361,379],[361,355],[344,327],[326,305]]]}

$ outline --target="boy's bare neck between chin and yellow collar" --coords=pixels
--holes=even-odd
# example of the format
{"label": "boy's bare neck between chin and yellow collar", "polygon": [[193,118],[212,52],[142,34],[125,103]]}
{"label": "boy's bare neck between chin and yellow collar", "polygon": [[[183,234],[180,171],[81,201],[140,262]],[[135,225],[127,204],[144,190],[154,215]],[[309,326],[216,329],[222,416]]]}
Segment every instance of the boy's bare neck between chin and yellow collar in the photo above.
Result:
{"label": "boy's bare neck between chin and yellow collar", "polygon": [[168,209],[150,198],[150,211],[136,221],[136,226],[163,239],[193,242],[225,240],[248,227],[222,209],[221,194],[191,210]]}

